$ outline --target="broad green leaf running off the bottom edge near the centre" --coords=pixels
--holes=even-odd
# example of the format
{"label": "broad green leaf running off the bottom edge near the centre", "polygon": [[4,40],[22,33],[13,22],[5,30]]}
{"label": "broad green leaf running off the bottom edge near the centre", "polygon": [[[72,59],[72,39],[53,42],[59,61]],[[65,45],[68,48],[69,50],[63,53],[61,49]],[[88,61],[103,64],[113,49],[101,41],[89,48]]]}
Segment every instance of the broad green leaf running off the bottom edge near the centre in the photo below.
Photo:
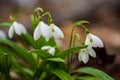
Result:
{"label": "broad green leaf running off the bottom edge near the centre", "polygon": [[50,72],[58,76],[61,80],[74,80],[67,72],[62,69],[54,68],[50,69]]}

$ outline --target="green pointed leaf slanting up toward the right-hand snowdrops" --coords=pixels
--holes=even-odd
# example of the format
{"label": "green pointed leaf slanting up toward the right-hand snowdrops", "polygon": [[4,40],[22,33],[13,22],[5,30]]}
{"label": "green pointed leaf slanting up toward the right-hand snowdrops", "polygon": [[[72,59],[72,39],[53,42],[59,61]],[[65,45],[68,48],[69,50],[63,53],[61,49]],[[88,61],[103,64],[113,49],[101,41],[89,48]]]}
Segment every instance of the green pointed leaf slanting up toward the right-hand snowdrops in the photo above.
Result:
{"label": "green pointed leaf slanting up toward the right-hand snowdrops", "polygon": [[66,56],[72,54],[73,52],[79,51],[80,49],[86,48],[87,46],[79,46],[79,47],[73,47],[73,48],[68,48],[65,51],[62,51],[55,56],[60,57],[60,58],[65,58]]}

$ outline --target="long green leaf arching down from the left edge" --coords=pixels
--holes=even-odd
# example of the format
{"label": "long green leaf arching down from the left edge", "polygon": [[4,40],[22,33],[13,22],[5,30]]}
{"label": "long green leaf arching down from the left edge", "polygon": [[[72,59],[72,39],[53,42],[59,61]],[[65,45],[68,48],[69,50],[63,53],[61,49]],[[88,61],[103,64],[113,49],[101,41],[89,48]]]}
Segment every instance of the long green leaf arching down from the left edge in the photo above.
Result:
{"label": "long green leaf arching down from the left edge", "polygon": [[26,50],[20,48],[16,43],[14,43],[13,41],[7,40],[7,39],[0,38],[0,43],[3,43],[11,47],[16,52],[16,55],[19,55],[22,58],[24,58],[26,61],[29,62],[32,68],[35,68],[36,63],[34,61],[34,58]]}

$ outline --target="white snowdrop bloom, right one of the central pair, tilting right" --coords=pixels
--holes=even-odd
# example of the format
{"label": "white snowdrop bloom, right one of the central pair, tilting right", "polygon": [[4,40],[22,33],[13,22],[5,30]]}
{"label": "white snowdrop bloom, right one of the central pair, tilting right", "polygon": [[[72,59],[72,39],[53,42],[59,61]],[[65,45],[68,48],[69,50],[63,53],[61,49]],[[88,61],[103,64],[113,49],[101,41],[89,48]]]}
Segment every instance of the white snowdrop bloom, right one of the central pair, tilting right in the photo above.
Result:
{"label": "white snowdrop bloom, right one of the central pair, tilting right", "polygon": [[50,27],[52,29],[52,36],[54,38],[64,38],[64,34],[63,32],[60,30],[60,28],[58,26],[56,26],[55,24],[50,24]]}

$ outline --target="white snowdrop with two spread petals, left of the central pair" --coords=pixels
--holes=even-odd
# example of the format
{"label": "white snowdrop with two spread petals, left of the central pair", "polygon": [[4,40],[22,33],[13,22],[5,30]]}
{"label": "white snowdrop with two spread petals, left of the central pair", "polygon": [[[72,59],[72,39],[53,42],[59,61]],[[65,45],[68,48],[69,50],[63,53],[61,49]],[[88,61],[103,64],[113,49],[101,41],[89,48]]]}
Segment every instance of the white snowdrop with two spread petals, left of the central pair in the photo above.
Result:
{"label": "white snowdrop with two spread petals, left of the central pair", "polygon": [[26,34],[27,31],[24,27],[24,25],[18,23],[18,22],[13,22],[13,24],[11,25],[9,31],[8,31],[8,36],[9,38],[12,38],[13,37],[13,34],[14,32],[17,34],[17,35],[21,35],[21,34]]}

